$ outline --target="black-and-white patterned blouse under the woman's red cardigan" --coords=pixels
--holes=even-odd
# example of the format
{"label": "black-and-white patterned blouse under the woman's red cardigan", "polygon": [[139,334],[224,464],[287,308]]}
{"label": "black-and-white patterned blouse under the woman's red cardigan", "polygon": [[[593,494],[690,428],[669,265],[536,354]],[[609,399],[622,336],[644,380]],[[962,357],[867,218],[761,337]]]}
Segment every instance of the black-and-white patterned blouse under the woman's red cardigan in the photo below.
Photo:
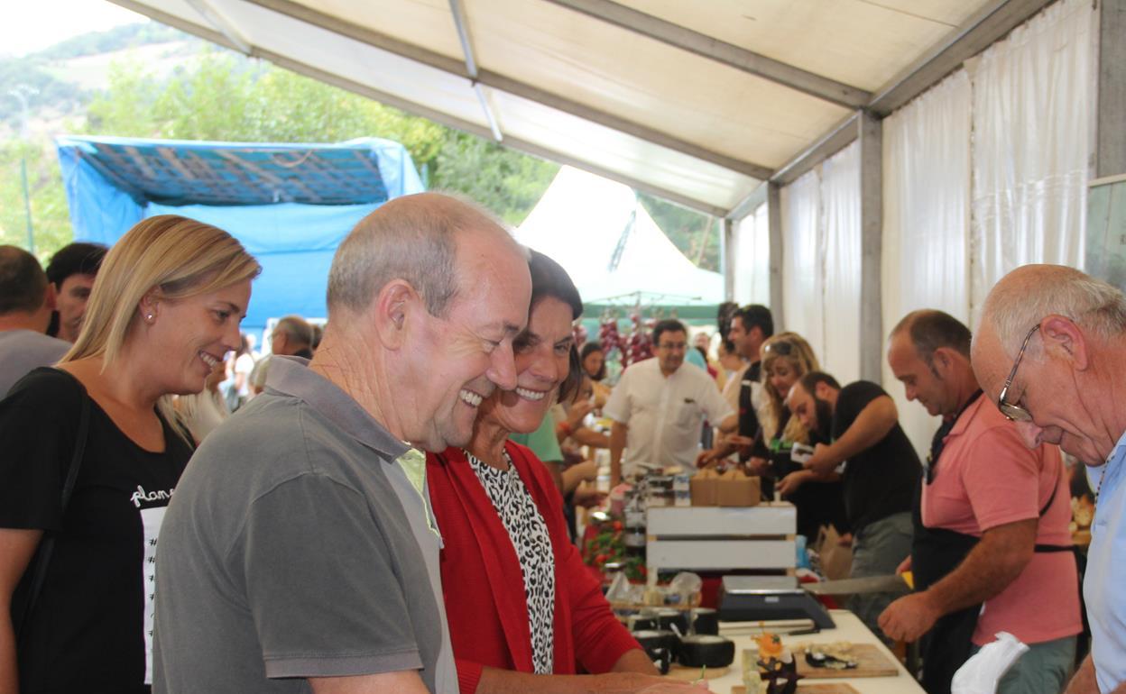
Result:
{"label": "black-and-white patterned blouse under the woman's red cardigan", "polygon": [[555,652],[555,558],[547,523],[512,467],[508,451],[504,451],[507,470],[482,462],[468,451],[465,456],[504,524],[520,561],[528,602],[533,665],[537,675],[549,675],[554,670]]}

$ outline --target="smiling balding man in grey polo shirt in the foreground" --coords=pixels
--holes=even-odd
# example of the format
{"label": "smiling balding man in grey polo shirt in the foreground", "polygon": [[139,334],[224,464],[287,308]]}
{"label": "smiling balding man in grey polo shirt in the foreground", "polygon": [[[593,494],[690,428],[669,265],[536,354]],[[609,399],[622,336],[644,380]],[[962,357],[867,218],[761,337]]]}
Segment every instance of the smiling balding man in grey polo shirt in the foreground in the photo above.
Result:
{"label": "smiling balding man in grey polo shirt in the foreground", "polygon": [[466,202],[408,196],[357,225],[312,361],[276,358],[177,487],[157,693],[457,692],[418,449],[467,443],[516,387],[530,291],[524,250]]}

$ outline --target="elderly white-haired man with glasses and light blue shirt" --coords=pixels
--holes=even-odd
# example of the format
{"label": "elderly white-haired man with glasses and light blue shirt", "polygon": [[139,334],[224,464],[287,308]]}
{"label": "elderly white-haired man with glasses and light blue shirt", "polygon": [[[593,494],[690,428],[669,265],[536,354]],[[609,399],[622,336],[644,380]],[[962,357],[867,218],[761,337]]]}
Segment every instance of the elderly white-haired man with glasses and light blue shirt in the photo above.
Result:
{"label": "elderly white-haired man with glasses and light blue shirt", "polygon": [[1091,656],[1069,694],[1126,693],[1126,296],[1060,265],[1025,265],[990,291],[974,337],[985,396],[1026,442],[1058,443],[1096,489],[1083,595]]}

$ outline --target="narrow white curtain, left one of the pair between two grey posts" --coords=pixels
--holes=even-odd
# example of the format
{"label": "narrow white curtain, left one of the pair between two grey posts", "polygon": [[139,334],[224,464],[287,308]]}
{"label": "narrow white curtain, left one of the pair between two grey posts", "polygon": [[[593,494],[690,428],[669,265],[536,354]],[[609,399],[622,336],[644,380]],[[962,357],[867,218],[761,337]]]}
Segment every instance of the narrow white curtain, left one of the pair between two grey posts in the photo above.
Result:
{"label": "narrow white curtain, left one of the pair between two grey posts", "polygon": [[824,262],[821,179],[813,170],[781,189],[784,330],[805,337],[824,359]]}

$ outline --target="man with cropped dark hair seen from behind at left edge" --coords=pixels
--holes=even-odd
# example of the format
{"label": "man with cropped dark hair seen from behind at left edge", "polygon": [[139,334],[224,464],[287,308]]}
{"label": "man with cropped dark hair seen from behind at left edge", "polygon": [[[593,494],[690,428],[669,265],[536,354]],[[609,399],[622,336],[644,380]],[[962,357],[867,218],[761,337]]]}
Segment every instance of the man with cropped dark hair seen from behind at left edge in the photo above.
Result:
{"label": "man with cropped dark hair seen from behind at left edge", "polygon": [[50,367],[70,343],[46,335],[55,290],[34,255],[0,246],[0,398],[32,369]]}

